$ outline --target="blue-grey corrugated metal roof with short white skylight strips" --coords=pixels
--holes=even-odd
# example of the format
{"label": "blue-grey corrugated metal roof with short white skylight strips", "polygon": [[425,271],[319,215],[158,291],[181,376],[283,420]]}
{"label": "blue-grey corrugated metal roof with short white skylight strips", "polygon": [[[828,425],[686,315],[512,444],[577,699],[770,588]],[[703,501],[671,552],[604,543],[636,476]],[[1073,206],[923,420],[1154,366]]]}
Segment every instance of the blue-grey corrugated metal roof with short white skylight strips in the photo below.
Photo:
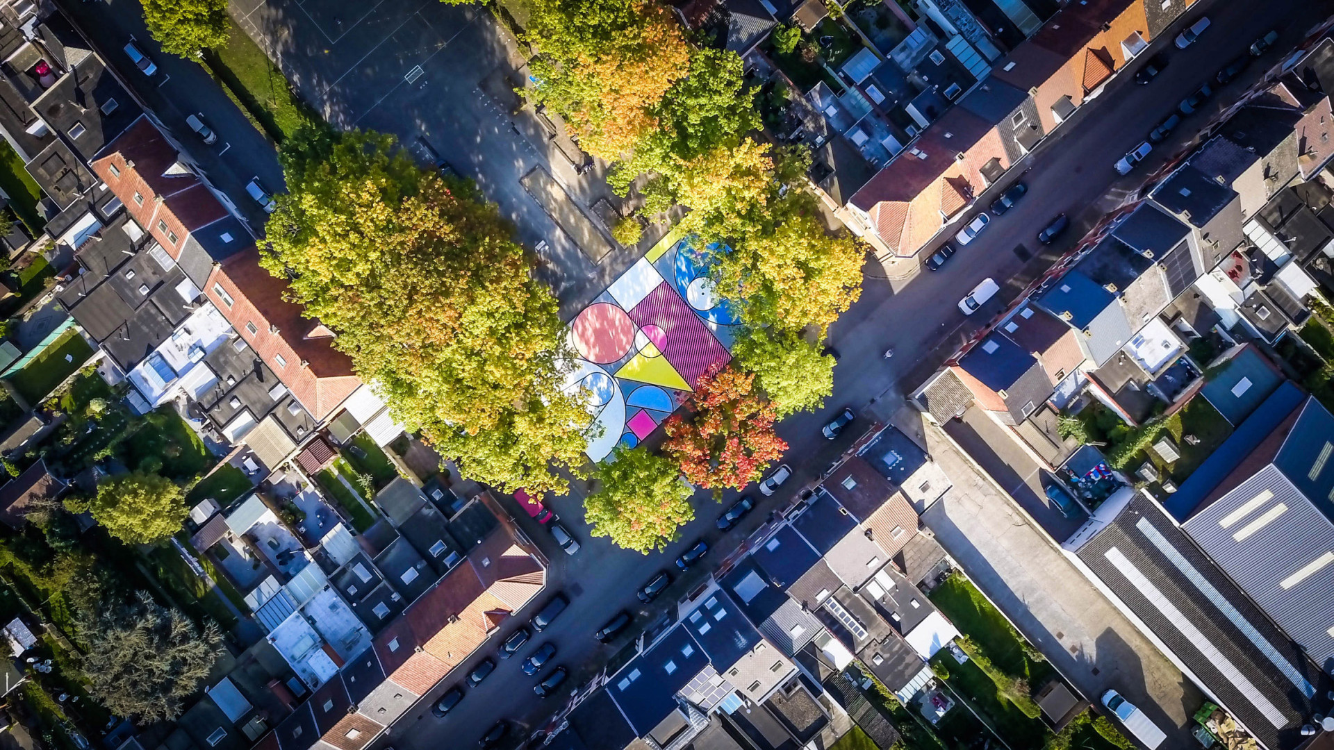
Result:
{"label": "blue-grey corrugated metal roof with short white skylight strips", "polygon": [[1331,663],[1334,522],[1275,466],[1182,527],[1315,663]]}

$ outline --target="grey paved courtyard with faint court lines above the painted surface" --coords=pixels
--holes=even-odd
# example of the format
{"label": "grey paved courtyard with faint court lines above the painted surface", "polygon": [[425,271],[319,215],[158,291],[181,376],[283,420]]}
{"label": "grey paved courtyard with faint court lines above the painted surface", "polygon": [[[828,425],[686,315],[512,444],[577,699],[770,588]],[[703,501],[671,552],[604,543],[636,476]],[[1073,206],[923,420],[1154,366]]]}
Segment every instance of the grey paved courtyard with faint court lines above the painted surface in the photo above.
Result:
{"label": "grey paved courtyard with faint court lines above the painted surface", "polygon": [[662,236],[651,227],[638,248],[611,239],[632,204],[611,194],[606,164],[578,173],[584,155],[563,127],[522,105],[526,61],[490,11],[439,0],[232,0],[231,11],[329,123],[394,133],[475,179],[536,248],[567,319]]}

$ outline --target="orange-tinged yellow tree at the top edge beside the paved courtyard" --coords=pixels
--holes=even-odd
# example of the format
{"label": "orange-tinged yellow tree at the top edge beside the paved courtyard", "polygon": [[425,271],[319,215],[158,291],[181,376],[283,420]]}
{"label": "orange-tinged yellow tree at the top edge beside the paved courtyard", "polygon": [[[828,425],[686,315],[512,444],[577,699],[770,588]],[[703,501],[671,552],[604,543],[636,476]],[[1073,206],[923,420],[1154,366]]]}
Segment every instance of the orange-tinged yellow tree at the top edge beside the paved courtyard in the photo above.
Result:
{"label": "orange-tinged yellow tree at the top edge beside the paved courtyard", "polygon": [[690,45],[652,0],[538,3],[526,39],[534,99],[579,131],[580,145],[614,161],[658,129],[655,108],[690,71]]}

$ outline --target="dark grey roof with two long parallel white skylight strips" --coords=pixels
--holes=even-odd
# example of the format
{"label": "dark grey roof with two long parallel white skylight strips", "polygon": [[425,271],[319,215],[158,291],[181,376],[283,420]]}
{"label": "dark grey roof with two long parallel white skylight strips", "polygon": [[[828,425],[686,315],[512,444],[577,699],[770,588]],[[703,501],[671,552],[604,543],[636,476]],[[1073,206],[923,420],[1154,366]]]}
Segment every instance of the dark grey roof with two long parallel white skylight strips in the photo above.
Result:
{"label": "dark grey roof with two long parallel white skylight strips", "polygon": [[1266,747],[1302,743],[1319,673],[1151,500],[1077,554]]}

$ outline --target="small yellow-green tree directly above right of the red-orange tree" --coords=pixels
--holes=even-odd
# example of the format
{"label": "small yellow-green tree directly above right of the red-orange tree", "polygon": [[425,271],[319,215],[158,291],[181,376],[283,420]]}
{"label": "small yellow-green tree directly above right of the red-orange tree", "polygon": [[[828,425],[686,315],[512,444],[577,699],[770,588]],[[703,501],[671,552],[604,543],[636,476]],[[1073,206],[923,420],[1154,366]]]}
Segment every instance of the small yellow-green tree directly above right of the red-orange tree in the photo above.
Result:
{"label": "small yellow-green tree directly above right of the red-orange tree", "polygon": [[755,374],[779,419],[814,411],[834,392],[834,358],[798,331],[750,330],[736,339],[732,358]]}

